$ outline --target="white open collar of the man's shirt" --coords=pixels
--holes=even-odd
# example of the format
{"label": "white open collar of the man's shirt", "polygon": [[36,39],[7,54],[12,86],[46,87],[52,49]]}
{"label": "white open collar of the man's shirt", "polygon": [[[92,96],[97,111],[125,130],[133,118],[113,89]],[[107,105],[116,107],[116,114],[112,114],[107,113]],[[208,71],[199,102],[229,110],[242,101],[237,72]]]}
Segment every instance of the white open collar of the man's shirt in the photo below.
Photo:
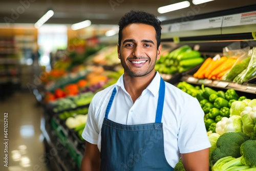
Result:
{"label": "white open collar of the man's shirt", "polygon": [[[145,94],[149,90],[154,96],[156,96],[159,91],[159,87],[160,87],[160,78],[161,78],[161,76],[157,71],[154,79],[147,86],[147,88],[142,92],[142,95]],[[124,88],[123,75],[116,82],[117,93],[118,93],[119,89],[122,89],[124,92],[127,93],[127,91]]]}

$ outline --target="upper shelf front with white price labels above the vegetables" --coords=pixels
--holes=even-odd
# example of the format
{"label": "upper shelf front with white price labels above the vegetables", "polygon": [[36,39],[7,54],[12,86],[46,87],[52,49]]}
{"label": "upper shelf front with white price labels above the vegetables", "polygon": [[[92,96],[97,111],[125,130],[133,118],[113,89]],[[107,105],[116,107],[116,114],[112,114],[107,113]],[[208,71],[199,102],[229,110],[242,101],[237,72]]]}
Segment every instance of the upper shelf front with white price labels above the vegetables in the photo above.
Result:
{"label": "upper shelf front with white price labels above the vegetables", "polygon": [[[220,37],[221,40],[231,40],[231,37],[236,40],[254,40],[252,32],[255,32],[256,28],[255,9],[256,4],[251,4],[193,17],[165,20],[162,22],[162,40],[220,41]],[[241,33],[247,35],[241,37]],[[237,34],[240,37],[237,37]]]}

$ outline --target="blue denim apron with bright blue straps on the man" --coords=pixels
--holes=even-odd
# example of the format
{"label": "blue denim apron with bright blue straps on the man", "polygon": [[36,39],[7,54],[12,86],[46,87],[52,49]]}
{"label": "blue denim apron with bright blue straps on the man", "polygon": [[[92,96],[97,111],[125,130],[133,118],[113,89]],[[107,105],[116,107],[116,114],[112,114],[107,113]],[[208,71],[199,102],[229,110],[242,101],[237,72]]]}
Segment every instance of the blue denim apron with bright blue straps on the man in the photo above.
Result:
{"label": "blue denim apron with bright blue straps on the man", "polygon": [[100,170],[174,170],[164,155],[164,93],[165,82],[161,78],[155,123],[124,125],[108,119],[114,88],[101,129]]}

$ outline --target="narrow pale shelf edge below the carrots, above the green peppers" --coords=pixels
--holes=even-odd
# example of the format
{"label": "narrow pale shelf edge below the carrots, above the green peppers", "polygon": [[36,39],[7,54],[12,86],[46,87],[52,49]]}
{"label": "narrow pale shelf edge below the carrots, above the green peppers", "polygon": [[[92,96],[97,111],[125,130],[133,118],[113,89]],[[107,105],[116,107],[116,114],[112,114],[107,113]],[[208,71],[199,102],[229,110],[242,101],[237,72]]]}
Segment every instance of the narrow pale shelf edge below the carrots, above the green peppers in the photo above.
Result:
{"label": "narrow pale shelf edge below the carrots, above the green peppers", "polygon": [[221,88],[221,89],[234,89],[236,91],[240,92],[246,92],[250,94],[256,94],[256,85],[246,85],[243,83],[237,83],[237,82],[228,82],[228,81],[222,81],[222,80],[209,80],[209,79],[198,79],[190,75],[185,75],[181,78],[181,81],[186,81],[188,83],[192,84],[204,84],[208,87],[215,87],[215,88]]}

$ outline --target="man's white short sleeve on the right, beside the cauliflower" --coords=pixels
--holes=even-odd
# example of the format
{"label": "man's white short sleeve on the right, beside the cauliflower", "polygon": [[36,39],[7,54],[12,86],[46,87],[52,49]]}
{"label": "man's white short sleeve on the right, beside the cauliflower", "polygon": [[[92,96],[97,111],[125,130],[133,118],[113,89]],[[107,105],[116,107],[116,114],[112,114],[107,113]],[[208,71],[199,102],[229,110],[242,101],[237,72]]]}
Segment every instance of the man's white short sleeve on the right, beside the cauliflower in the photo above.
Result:
{"label": "man's white short sleeve on the right, beside the cauliflower", "polygon": [[179,117],[180,153],[191,153],[210,147],[204,124],[204,112],[196,98],[189,99]]}

